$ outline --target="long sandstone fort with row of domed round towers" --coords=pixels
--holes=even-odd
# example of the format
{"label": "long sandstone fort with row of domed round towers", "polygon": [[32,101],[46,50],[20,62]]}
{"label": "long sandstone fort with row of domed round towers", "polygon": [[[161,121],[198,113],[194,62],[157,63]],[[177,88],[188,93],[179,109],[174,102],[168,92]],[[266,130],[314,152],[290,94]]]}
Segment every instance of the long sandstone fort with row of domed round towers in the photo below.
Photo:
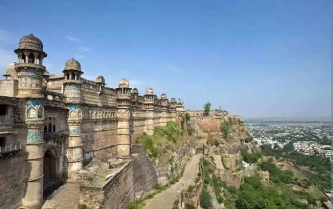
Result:
{"label": "long sandstone fort with row of domed round towers", "polygon": [[[133,201],[132,143],[176,121],[183,103],[166,94],[158,98],[151,88],[141,96],[126,79],[115,89],[103,76],[84,79],[74,59],[62,74],[50,75],[43,43],[33,34],[22,37],[14,52],[18,61],[0,80],[0,209],[38,208],[52,188],[87,179],[80,201],[124,208],[108,195]],[[92,161],[95,170],[83,170]]]}

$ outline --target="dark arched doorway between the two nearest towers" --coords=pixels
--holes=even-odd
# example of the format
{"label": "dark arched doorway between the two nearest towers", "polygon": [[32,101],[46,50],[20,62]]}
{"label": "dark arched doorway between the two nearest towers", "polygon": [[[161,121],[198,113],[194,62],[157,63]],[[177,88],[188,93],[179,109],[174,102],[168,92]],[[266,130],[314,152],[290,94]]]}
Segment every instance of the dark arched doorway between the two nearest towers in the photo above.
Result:
{"label": "dark arched doorway between the two nearest towers", "polygon": [[51,150],[47,150],[44,155],[44,196],[58,187],[58,158]]}

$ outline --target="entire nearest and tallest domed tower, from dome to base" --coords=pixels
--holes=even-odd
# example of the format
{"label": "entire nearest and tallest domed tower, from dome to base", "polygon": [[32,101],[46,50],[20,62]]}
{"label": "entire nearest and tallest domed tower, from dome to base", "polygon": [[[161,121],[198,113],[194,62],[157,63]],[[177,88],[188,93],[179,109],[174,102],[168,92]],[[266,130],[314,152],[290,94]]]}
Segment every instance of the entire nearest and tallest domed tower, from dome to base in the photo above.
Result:
{"label": "entire nearest and tallest domed tower, from dome to base", "polygon": [[[25,123],[26,143],[26,192],[23,206],[38,207],[43,202],[43,157],[44,157],[44,105],[42,79],[45,72],[42,41],[33,34],[24,36],[14,50],[18,57],[15,70],[18,79],[17,97],[26,98]],[[14,73],[13,71],[13,73]],[[13,74],[12,74],[13,75]]]}

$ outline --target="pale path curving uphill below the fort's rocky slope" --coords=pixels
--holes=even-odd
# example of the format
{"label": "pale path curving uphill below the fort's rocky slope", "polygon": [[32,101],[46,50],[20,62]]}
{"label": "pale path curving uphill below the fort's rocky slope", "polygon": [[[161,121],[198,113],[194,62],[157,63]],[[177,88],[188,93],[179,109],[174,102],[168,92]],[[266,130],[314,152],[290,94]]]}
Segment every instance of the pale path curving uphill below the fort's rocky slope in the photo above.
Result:
{"label": "pale path curving uphill below the fort's rocky slope", "polygon": [[[177,199],[177,192],[194,185],[196,174],[199,172],[198,163],[201,154],[195,155],[185,166],[184,175],[181,179],[167,190],[156,194],[152,199],[146,200],[143,209],[171,209],[173,202]],[[184,185],[183,185],[184,182]]]}

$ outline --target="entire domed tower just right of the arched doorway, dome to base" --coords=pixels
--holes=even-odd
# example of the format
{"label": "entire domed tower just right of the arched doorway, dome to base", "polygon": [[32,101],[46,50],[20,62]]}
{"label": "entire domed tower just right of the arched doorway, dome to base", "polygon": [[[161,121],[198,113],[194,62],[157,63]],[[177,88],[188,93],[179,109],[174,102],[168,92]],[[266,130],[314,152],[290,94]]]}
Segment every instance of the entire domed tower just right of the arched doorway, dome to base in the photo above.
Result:
{"label": "entire domed tower just right of the arched doorway, dome to base", "polygon": [[63,70],[63,91],[65,103],[68,105],[68,128],[69,138],[67,147],[68,177],[71,173],[82,169],[82,107],[81,107],[81,85],[80,80],[83,72],[81,64],[74,60],[68,60]]}

